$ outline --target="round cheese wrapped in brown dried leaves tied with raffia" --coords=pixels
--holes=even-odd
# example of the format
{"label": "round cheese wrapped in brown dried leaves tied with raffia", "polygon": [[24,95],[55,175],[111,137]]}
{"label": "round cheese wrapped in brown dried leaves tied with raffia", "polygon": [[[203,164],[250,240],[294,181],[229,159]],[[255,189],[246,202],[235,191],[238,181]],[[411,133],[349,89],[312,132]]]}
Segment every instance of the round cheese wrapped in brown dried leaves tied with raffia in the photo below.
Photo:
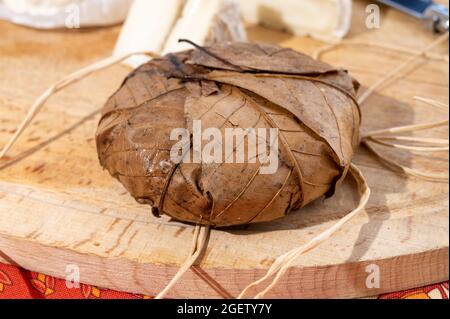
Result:
{"label": "round cheese wrapped in brown dried leaves tied with raffia", "polygon": [[[107,101],[99,160],[156,214],[215,227],[271,221],[331,196],[345,178],[359,145],[358,87],[346,71],[275,45],[168,54],[133,71]],[[172,162],[172,130],[192,133],[194,120],[223,136],[226,128],[277,128],[278,170]]]}

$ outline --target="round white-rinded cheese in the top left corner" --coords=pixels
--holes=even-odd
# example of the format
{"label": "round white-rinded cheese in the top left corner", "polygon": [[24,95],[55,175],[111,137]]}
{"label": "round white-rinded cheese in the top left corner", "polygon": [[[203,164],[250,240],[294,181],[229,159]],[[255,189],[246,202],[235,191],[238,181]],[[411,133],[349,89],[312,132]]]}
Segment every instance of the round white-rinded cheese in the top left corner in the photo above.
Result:
{"label": "round white-rinded cheese in the top left corner", "polygon": [[33,28],[76,28],[122,22],[133,0],[0,0],[0,19]]}

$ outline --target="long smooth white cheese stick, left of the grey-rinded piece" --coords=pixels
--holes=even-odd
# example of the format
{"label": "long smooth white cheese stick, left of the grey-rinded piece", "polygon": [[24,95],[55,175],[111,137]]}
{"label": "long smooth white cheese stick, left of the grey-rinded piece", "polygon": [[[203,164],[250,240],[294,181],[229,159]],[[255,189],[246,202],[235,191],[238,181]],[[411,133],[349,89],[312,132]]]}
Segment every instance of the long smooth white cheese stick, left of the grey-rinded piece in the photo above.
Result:
{"label": "long smooth white cheese stick, left of the grey-rinded piece", "polygon": [[[184,0],[135,0],[119,39],[114,55],[152,51],[161,53],[184,5]],[[149,61],[144,55],[135,55],[124,64],[137,68]]]}

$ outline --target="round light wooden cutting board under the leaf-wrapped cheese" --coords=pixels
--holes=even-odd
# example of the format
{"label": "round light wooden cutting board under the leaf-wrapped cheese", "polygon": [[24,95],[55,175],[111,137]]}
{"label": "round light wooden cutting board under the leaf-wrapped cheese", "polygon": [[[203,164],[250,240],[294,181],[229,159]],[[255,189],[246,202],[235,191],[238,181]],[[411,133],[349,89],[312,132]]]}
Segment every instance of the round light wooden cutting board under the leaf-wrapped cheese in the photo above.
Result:
{"label": "round light wooden cutting board under the leaf-wrapped cheese", "polygon": [[[448,1],[446,2],[448,5]],[[364,25],[355,3],[350,39],[420,49],[435,36],[412,18],[383,10],[381,28]],[[36,31],[0,22],[0,145],[31,102],[50,84],[108,56],[119,27]],[[306,53],[324,45],[261,27],[253,41],[276,42]],[[448,54],[447,44],[435,50]],[[343,66],[363,86],[374,83],[407,54],[342,47],[324,60]],[[155,295],[189,253],[193,227],[157,219],[98,164],[94,133],[99,110],[129,72],[115,66],[52,98],[10,158],[0,163],[0,261],[99,287]],[[423,59],[362,107],[362,130],[432,122],[448,113],[413,101],[421,95],[448,103],[448,65]],[[419,136],[445,138],[447,128]],[[448,154],[411,154],[379,148],[403,164],[448,174]],[[366,210],[319,248],[299,258],[269,297],[364,297],[447,280],[448,184],[398,176],[360,149],[354,162],[372,188]],[[213,230],[198,266],[169,297],[233,297],[261,277],[274,259],[307,242],[355,206],[355,185],[284,219]],[[379,287],[366,285],[379,271]],[[369,280],[370,281],[370,280]]]}

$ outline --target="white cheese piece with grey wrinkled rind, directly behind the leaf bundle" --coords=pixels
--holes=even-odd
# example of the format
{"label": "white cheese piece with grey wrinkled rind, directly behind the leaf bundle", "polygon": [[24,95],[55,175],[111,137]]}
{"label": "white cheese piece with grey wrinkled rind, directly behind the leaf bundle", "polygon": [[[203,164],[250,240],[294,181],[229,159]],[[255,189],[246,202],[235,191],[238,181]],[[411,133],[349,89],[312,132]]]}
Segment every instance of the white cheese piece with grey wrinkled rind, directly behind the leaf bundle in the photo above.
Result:
{"label": "white cheese piece with grey wrinkled rind, directly behind the leaf bundle", "polygon": [[163,54],[192,49],[179,39],[198,45],[246,41],[239,5],[234,0],[188,0],[163,49]]}

